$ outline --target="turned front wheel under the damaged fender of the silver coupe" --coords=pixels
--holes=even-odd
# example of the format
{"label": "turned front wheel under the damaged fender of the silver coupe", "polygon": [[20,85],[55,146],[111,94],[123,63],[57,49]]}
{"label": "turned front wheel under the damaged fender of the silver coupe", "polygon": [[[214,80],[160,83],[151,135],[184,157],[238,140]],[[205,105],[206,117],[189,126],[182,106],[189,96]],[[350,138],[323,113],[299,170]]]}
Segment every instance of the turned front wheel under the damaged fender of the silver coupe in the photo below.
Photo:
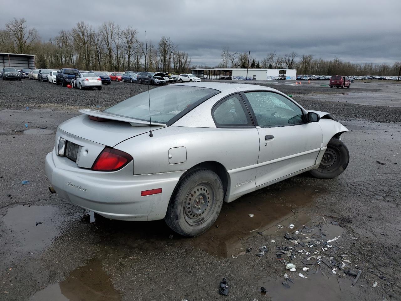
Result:
{"label": "turned front wheel under the damaged fender of the silver coupe", "polygon": [[350,161],[350,153],[346,145],[337,138],[331,138],[327,144],[322,161],[310,174],[319,179],[334,179],[341,175]]}

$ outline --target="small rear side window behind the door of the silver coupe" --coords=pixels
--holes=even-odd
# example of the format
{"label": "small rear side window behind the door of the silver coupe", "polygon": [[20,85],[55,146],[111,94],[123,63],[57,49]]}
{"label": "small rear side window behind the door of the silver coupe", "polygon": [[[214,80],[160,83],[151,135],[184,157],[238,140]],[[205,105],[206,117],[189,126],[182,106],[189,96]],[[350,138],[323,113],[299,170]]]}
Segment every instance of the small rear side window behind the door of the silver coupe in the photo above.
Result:
{"label": "small rear side window behind the door of the silver coupe", "polygon": [[228,96],[218,102],[213,108],[212,115],[217,127],[252,126],[247,108],[239,94]]}

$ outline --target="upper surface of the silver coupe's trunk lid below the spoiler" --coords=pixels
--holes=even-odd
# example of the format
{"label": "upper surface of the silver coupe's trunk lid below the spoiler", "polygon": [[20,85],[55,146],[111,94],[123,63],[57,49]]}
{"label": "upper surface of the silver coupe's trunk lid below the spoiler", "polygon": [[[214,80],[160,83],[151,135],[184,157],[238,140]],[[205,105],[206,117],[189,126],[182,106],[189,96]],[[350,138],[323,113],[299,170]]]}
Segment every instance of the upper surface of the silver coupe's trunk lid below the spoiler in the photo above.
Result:
{"label": "upper surface of the silver coupe's trunk lid below the spoiler", "polygon": [[[152,125],[152,130],[164,126]],[[150,132],[150,126],[131,126],[128,122],[108,120],[99,122],[86,114],[71,118],[59,125],[64,132],[99,144],[115,146],[129,138]]]}

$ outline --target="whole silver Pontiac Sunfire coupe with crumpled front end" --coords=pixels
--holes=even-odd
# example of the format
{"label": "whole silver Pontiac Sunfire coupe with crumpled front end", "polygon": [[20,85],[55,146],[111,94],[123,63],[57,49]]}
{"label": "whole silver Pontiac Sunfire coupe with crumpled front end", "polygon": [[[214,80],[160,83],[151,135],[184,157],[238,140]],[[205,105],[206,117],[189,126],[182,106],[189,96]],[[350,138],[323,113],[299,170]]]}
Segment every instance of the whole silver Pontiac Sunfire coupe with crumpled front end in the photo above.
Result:
{"label": "whole silver Pontiac Sunfire coupe with crumpled front end", "polygon": [[348,130],[275,89],[207,82],[149,94],[62,123],[45,163],[51,191],[106,218],[164,218],[197,236],[223,202],[307,171],[332,179],[348,165]]}

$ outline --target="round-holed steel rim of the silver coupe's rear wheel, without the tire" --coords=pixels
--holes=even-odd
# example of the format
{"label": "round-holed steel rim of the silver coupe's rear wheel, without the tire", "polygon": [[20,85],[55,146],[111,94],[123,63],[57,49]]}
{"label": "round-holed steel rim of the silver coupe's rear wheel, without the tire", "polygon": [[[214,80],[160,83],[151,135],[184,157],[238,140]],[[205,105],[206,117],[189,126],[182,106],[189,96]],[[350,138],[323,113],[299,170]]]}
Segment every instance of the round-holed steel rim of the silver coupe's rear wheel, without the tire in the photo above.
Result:
{"label": "round-holed steel rim of the silver coupe's rear wheel, without the tire", "polygon": [[215,191],[209,182],[194,185],[186,195],[184,218],[190,226],[200,226],[207,222],[213,214]]}

